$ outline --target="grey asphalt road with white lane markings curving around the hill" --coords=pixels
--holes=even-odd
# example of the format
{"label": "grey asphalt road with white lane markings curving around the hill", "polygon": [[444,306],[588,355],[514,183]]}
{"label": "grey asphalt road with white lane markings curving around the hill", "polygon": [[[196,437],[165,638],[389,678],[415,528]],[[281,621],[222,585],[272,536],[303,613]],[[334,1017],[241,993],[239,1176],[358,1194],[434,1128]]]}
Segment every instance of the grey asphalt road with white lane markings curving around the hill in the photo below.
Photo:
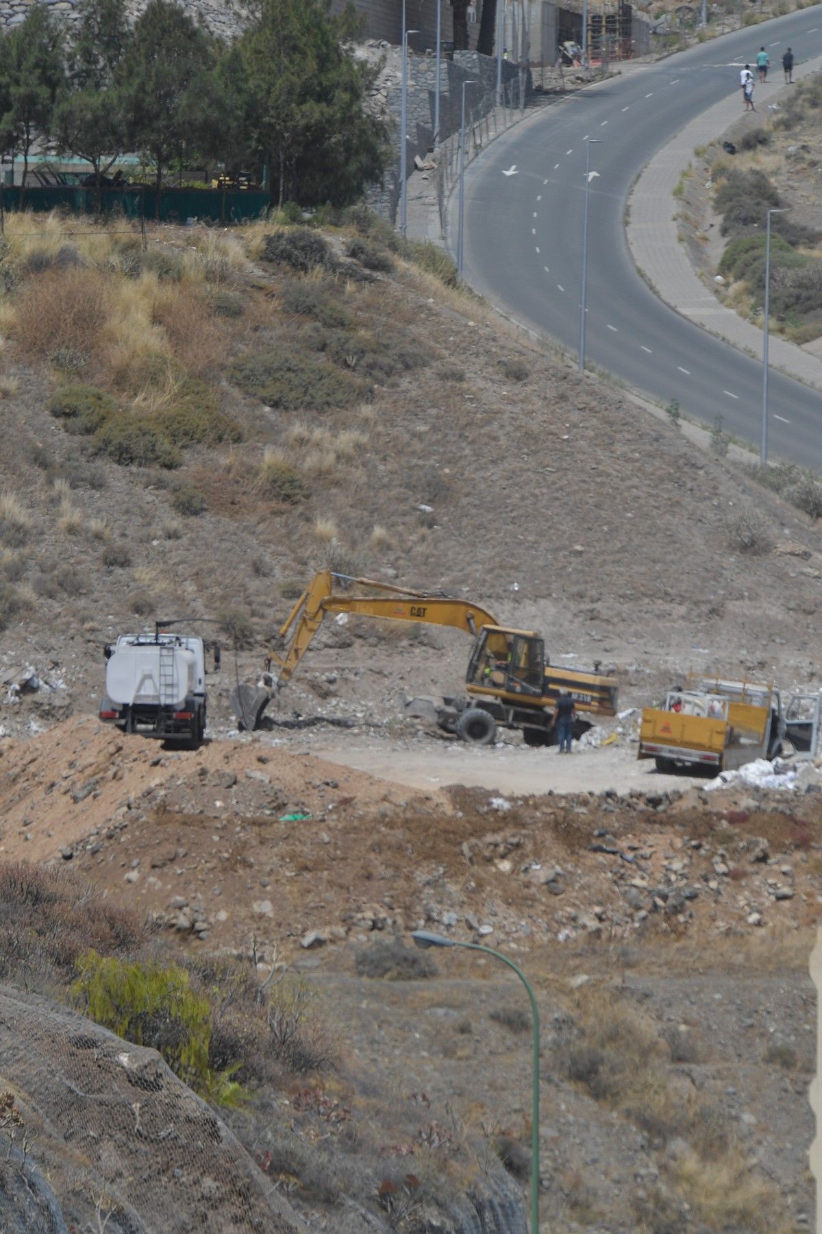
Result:
{"label": "grey asphalt road with white lane markings curving around the hill", "polygon": [[[764,43],[773,86],[781,53],[822,53],[822,7],[690,48],[573,95],[494,143],[467,173],[465,276],[518,320],[576,349],[579,329],[584,138],[592,147],[587,359],[685,413],[759,441],[762,364],[667,307],[636,271],[625,238],[630,188],[651,155],[689,120],[738,91],[739,67]],[[739,106],[742,110],[742,105]],[[516,165],[516,174],[503,170]],[[456,197],[456,194],[454,195]],[[670,202],[670,210],[675,204]],[[452,213],[452,227],[455,225]],[[454,231],[452,231],[454,234]],[[822,466],[822,399],[771,370],[774,454]]]}

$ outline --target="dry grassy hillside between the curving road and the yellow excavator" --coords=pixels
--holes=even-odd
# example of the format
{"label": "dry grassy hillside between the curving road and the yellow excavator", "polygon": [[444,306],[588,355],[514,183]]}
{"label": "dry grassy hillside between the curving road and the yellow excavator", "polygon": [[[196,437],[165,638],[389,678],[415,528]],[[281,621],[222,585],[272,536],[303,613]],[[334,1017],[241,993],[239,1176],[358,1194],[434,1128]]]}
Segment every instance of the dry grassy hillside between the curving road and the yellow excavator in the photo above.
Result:
{"label": "dry grassy hillside between the curving road and the yellow excavator", "polygon": [[[812,680],[810,520],[510,337],[419,264],[442,268],[433,254],[378,239],[160,228],[142,252],[7,220],[2,676],[65,689],[4,707],[4,728],[94,710],[102,644],[154,616],[217,618],[254,676],[324,564],[476,596],[555,658],[603,660],[632,701],[690,666]],[[754,506],[765,536],[746,550]],[[409,687],[456,686],[465,642],[414,636],[335,629],[318,692],[383,718]],[[286,703],[307,713],[309,670]]]}

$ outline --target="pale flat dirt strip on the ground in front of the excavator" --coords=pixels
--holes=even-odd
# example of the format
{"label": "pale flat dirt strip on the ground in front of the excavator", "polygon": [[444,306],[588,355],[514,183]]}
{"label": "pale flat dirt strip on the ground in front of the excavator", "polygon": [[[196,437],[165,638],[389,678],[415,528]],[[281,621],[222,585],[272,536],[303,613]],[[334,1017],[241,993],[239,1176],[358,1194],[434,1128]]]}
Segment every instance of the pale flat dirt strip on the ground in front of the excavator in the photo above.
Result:
{"label": "pale flat dirt strip on the ground in front of the excavator", "polygon": [[425,743],[419,748],[393,742],[346,742],[314,747],[312,753],[343,766],[368,771],[410,789],[444,789],[474,785],[503,793],[664,791],[702,782],[684,775],[659,775],[651,760],[636,759],[635,747],[556,750],[500,745],[472,749],[454,744]]}

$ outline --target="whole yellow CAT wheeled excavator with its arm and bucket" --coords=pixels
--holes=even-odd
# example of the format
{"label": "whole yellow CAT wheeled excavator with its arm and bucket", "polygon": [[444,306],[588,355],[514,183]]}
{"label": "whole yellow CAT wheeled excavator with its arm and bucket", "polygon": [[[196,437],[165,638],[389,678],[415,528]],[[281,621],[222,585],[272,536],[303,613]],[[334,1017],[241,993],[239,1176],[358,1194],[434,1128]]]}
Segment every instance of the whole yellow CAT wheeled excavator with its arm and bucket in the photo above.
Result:
{"label": "whole yellow CAT wheeled excavator with its arm and bucket", "polygon": [[[344,590],[335,591],[335,585]],[[283,654],[269,654],[259,685],[238,685],[232,691],[232,708],[240,728],[258,727],[267,703],[291,679],[323,619],[340,613],[451,626],[471,634],[474,643],[466,674],[468,697],[412,698],[405,714],[433,719],[474,745],[490,745],[498,726],[520,728],[526,745],[553,744],[555,705],[561,689],[573,696],[577,712],[598,716],[616,712],[616,680],[600,674],[599,665],[593,671],[550,665],[540,634],[500,626],[481,605],[442,592],[413,591],[320,570],[280,631],[280,638],[286,640]],[[279,666],[276,677],[272,665]],[[574,737],[590,727],[590,721],[578,714]]]}

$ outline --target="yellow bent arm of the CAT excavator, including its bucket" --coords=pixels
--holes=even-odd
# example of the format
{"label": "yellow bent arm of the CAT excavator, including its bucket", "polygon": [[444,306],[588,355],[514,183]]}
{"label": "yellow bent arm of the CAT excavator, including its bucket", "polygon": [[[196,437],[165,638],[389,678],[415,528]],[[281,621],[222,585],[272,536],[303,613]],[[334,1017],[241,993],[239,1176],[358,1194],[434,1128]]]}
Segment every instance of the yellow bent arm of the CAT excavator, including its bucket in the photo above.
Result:
{"label": "yellow bent arm of the CAT excavator, including its bucket", "polygon": [[[334,592],[335,580],[349,586],[356,585],[357,589],[368,589],[377,595]],[[291,680],[323,618],[339,613],[359,613],[365,617],[420,622],[428,626],[451,626],[455,629],[463,629],[472,637],[476,637],[483,626],[497,626],[497,619],[486,608],[467,600],[320,570],[299,596],[280,629],[280,637],[288,640],[285,653],[269,653],[266,673],[259,686],[238,685],[232,691],[232,707],[243,728],[256,728],[271,697]],[[269,671],[272,663],[280,668],[276,681]]]}

